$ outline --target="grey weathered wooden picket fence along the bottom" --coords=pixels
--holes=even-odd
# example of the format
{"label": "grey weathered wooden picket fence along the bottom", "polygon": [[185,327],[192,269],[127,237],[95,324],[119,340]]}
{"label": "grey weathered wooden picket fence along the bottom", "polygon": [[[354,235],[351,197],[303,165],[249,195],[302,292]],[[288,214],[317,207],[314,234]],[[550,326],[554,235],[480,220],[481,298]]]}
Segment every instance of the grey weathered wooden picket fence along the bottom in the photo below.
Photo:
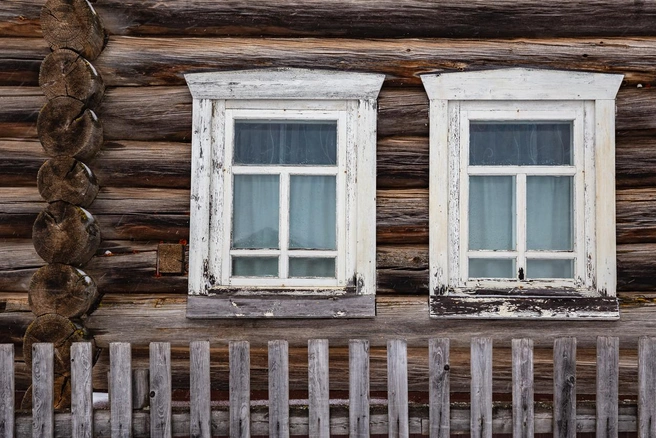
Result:
{"label": "grey weathered wooden picket fence along the bottom", "polygon": [[[369,342],[349,342],[348,416],[334,416],[329,397],[328,341],[308,341],[308,395],[305,415],[290,416],[289,362],[287,341],[269,342],[269,400],[267,412],[257,412],[250,400],[250,346],[229,344],[229,408],[216,409],[210,401],[210,345],[190,344],[190,402],[182,411],[172,409],[170,344],[150,344],[149,408],[133,410],[131,347],[110,344],[109,410],[94,409],[92,400],[92,348],[78,343],[71,348],[71,411],[53,411],[53,346],[35,344],[32,353],[33,409],[14,412],[14,347],[0,345],[0,438],[5,437],[130,437],[130,436],[226,436],[306,435],[327,437],[372,433],[392,437],[410,434],[448,437],[467,431],[472,437],[512,433],[532,437],[553,433],[574,437],[577,431],[596,431],[597,437],[616,437],[634,431],[640,437],[656,437],[656,338],[639,340],[639,394],[636,413],[620,422],[618,409],[619,341],[597,339],[597,394],[594,415],[577,413],[576,339],[554,342],[554,398],[550,415],[536,416],[533,396],[533,341],[512,341],[512,412],[493,411],[492,340],[471,341],[471,402],[463,408],[450,402],[449,340],[429,341],[430,396],[427,419],[411,418],[408,403],[406,342],[387,343],[387,413],[370,406]],[[144,391],[143,388],[141,391]],[[373,413],[373,414],[372,414]],[[252,415],[253,414],[253,415]],[[542,413],[544,414],[544,413]],[[577,415],[578,414],[578,415]],[[623,415],[627,417],[627,415]],[[384,417],[384,418],[381,418]],[[592,420],[590,420],[592,418]],[[626,420],[626,418],[625,418]],[[594,424],[590,424],[593,422]],[[454,427],[455,426],[455,427]]]}

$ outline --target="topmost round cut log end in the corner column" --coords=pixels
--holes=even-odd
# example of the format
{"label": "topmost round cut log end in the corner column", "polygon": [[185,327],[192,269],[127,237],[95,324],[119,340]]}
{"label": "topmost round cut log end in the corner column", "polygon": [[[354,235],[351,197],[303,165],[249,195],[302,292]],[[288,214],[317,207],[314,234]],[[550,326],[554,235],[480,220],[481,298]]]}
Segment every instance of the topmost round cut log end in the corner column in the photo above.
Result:
{"label": "topmost round cut log end in the corner column", "polygon": [[41,29],[53,50],[72,49],[90,61],[107,42],[100,17],[87,0],[48,0],[41,10]]}

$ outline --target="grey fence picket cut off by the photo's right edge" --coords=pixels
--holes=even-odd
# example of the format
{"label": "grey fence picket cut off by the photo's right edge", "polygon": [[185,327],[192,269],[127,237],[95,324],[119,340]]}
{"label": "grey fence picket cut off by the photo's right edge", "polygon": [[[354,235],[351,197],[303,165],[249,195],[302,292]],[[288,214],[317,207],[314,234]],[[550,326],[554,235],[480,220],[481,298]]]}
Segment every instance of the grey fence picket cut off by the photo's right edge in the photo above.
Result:
{"label": "grey fence picket cut off by the photo's right edge", "polygon": [[638,437],[656,437],[656,338],[638,341]]}

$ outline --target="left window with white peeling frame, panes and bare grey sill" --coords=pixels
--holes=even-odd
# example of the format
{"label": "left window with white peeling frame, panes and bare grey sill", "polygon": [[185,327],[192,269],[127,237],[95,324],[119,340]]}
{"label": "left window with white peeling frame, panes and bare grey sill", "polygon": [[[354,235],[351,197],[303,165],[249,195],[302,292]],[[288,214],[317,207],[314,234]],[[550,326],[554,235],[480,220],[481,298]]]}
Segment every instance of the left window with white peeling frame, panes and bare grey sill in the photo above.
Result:
{"label": "left window with white peeling frame, panes and bare grey sill", "polygon": [[375,315],[383,75],[186,75],[194,97],[189,318]]}

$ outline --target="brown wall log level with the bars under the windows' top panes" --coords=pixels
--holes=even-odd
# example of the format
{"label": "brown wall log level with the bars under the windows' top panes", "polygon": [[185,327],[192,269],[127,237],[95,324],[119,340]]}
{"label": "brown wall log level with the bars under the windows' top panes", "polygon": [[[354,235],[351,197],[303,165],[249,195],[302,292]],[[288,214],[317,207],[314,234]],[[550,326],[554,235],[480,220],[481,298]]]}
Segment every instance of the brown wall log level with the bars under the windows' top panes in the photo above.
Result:
{"label": "brown wall log level with the bars under the windows' top panes", "polygon": [[[656,137],[620,131],[616,138],[618,188],[656,186]],[[107,141],[87,164],[103,187],[189,188],[188,142]],[[0,187],[32,186],[48,158],[32,139],[0,138]],[[380,137],[376,184],[380,189],[428,187],[428,137]]]}

